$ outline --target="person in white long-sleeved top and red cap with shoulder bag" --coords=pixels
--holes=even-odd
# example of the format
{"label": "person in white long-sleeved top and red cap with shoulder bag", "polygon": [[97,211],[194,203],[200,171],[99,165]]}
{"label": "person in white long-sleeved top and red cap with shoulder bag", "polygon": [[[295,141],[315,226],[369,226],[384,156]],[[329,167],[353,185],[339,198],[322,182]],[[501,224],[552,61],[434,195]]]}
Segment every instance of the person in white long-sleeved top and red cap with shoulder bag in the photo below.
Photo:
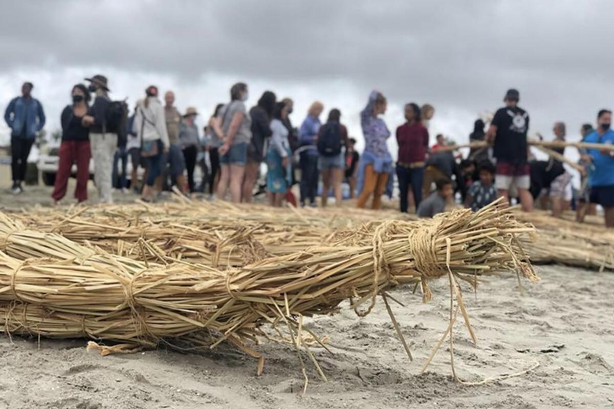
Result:
{"label": "person in white long-sleeved top and red cap with shoulder bag", "polygon": [[165,110],[158,99],[158,88],[150,85],[145,90],[146,97],[139,102],[134,115],[133,131],[141,141],[141,158],[146,162],[147,179],[145,180],[141,199],[153,200],[152,191],[156,179],[160,176],[165,153],[169,151],[170,141],[166,132]]}

